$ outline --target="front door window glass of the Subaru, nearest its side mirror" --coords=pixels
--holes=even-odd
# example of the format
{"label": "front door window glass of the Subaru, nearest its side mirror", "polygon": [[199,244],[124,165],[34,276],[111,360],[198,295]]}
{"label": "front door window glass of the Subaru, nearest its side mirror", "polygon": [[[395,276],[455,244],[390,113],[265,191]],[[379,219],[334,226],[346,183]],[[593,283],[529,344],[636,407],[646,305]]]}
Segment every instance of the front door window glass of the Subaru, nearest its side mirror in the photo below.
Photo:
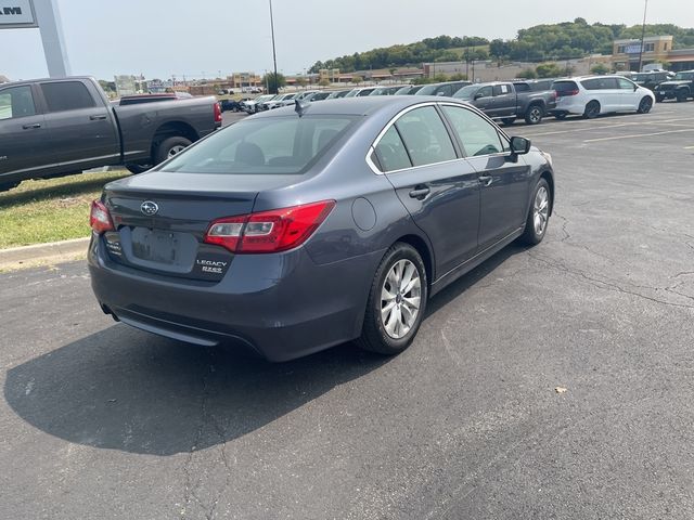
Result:
{"label": "front door window glass of the Subaru, nearest its side mirror", "polygon": [[500,154],[509,150],[497,128],[483,117],[458,106],[445,105],[442,108],[467,156]]}

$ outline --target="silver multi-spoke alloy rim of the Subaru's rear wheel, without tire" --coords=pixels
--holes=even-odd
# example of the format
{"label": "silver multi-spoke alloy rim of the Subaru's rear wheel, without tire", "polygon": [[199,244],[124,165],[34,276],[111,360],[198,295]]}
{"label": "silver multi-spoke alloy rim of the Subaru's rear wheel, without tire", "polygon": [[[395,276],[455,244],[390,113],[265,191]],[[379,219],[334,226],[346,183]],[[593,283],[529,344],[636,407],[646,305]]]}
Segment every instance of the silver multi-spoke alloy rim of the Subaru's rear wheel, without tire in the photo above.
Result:
{"label": "silver multi-spoke alloy rim of the Subaru's rear wheel, without tire", "polygon": [[381,321],[386,334],[401,339],[415,325],[422,304],[422,280],[413,262],[397,261],[381,289]]}

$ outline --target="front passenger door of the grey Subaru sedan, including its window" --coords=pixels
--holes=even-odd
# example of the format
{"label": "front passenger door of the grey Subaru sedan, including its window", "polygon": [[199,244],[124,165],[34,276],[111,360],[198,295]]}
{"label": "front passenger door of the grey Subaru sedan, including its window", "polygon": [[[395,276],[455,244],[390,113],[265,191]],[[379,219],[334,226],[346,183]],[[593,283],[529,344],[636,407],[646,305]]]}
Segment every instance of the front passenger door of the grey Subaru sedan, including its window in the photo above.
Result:
{"label": "front passenger door of the grey Subaru sedan, including its window", "polygon": [[478,244],[484,250],[523,226],[530,167],[523,157],[517,162],[506,160],[509,142],[487,119],[459,105],[444,105],[442,110],[477,172],[481,190]]}

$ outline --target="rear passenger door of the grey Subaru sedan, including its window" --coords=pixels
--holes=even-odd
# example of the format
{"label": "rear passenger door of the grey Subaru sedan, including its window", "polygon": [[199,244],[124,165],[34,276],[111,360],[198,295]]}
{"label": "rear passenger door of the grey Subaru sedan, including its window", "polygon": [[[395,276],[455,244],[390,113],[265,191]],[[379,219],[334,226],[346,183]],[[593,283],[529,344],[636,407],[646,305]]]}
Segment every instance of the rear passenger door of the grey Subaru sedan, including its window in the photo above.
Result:
{"label": "rear passenger door of the grey Subaru sedan, including its window", "polygon": [[477,248],[479,183],[459,158],[437,108],[403,114],[376,143],[375,156],[398,197],[426,233],[437,272],[447,273]]}

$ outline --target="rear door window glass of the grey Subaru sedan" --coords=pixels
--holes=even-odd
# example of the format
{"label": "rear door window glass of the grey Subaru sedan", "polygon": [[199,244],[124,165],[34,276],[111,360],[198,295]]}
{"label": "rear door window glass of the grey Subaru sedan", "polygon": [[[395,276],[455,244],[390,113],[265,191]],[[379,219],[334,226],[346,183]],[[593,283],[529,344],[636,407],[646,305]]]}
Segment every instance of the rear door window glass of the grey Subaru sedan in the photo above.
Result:
{"label": "rear door window glass of the grey Subaru sedan", "polygon": [[413,166],[433,165],[458,158],[450,135],[433,106],[402,115],[395,126],[402,136]]}

